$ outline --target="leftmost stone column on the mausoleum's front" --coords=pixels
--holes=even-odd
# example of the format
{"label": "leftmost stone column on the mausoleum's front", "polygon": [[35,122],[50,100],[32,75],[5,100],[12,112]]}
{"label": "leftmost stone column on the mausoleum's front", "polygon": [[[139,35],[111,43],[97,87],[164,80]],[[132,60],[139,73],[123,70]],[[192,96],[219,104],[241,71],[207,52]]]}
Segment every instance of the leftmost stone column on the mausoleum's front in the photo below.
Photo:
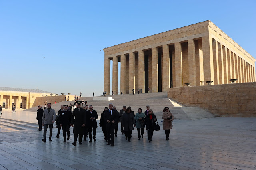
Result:
{"label": "leftmost stone column on the mausoleum's front", "polygon": [[[110,93],[110,59],[105,56],[104,61],[104,91]],[[27,108],[28,109],[28,108]]]}

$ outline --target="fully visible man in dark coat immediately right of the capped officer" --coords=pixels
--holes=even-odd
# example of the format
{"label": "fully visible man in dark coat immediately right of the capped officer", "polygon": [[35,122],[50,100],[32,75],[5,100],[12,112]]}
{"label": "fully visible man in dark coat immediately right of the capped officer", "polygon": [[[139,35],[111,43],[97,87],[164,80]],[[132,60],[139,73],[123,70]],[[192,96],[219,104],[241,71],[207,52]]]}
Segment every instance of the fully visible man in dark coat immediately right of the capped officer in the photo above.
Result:
{"label": "fully visible man in dark coat immediately right of the capped officer", "polygon": [[[86,111],[86,127],[88,128],[90,143],[92,142],[92,138],[94,142],[96,141],[96,138],[95,138],[96,128],[98,127],[96,119],[98,119],[97,111],[93,110],[92,105],[89,105],[89,110]],[[93,136],[92,136],[92,131],[93,131]]]}

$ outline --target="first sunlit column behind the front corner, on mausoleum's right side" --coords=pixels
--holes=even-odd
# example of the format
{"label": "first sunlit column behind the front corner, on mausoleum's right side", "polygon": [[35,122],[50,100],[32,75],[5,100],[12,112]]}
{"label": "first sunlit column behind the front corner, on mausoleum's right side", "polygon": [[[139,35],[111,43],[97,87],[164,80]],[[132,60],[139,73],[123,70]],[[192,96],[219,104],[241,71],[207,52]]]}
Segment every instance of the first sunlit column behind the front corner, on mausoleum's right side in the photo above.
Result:
{"label": "first sunlit column behind the front corner, on mausoleum's right side", "polygon": [[213,57],[213,67],[214,67],[214,82],[215,84],[220,84],[218,42],[216,40],[212,42],[212,52],[213,52],[212,57]]}

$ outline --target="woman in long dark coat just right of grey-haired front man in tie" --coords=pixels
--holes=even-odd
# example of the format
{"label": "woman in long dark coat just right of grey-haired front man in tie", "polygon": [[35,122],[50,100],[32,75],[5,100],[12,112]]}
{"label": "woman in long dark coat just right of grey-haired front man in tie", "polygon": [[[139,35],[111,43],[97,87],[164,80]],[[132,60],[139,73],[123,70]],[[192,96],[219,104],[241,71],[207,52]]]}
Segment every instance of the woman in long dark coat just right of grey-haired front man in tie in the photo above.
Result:
{"label": "woman in long dark coat just right of grey-haired front man in tie", "polygon": [[136,126],[135,119],[131,111],[132,111],[131,108],[128,107],[126,109],[126,112],[123,114],[123,117],[121,120],[124,125],[125,140],[127,140],[128,138],[129,142],[131,142],[132,130],[134,130],[132,125],[134,125],[134,127]]}

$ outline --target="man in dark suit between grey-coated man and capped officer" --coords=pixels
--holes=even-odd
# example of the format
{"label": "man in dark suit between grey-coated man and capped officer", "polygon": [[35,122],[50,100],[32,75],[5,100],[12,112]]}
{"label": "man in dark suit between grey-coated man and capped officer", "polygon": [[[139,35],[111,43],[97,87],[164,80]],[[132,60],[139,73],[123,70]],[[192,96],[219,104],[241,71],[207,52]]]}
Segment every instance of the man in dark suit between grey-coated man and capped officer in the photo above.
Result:
{"label": "man in dark suit between grey-coated man and capped officer", "polygon": [[69,127],[71,126],[72,113],[68,111],[68,105],[64,105],[64,111],[60,115],[60,127],[62,126],[63,138],[66,142],[66,133],[68,134],[68,139],[70,136]]}

